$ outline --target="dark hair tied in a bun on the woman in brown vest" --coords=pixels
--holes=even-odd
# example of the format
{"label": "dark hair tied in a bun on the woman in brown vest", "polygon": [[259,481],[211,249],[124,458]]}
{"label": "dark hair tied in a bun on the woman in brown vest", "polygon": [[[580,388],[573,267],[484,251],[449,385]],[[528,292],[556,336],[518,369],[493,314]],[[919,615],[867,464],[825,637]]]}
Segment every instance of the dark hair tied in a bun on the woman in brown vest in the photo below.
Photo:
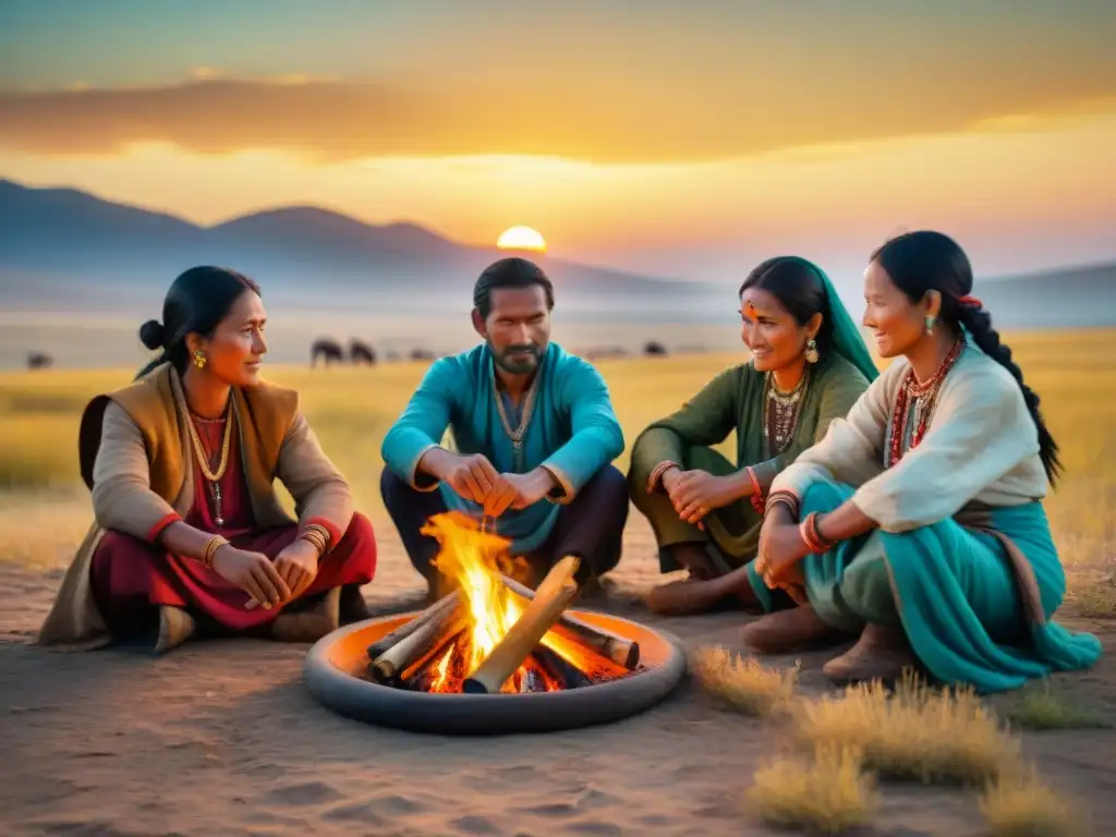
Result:
{"label": "dark hair tied in a bun on the woman in brown vest", "polygon": [[147,364],[137,378],[167,360],[180,374],[190,362],[186,336],[193,333],[209,337],[229,315],[229,309],[244,291],[260,292],[260,286],[247,276],[228,268],[211,266],[190,268],[171,283],[163,300],[163,321],[150,319],[140,326],[140,339],[158,357]]}

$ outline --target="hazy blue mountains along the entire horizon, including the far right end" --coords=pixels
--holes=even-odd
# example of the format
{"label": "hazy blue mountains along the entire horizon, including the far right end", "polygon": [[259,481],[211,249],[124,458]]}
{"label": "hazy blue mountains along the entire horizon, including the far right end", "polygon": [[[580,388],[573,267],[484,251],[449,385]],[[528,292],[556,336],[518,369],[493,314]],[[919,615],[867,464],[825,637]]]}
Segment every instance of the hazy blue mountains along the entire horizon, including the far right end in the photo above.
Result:
{"label": "hazy blue mountains along the entire horizon, including the far right end", "polygon": [[[260,279],[269,299],[397,309],[461,310],[485,264],[507,253],[465,247],[416,224],[373,225],[315,206],[257,212],[215,227],[104,201],[71,189],[0,180],[0,307],[151,310],[192,264],[229,264]],[[546,257],[559,299],[607,319],[662,309],[681,319],[723,309],[725,289]],[[980,279],[975,292],[1001,328],[1116,325],[1116,263]],[[564,297],[562,295],[568,295]],[[142,297],[137,299],[137,297]]]}

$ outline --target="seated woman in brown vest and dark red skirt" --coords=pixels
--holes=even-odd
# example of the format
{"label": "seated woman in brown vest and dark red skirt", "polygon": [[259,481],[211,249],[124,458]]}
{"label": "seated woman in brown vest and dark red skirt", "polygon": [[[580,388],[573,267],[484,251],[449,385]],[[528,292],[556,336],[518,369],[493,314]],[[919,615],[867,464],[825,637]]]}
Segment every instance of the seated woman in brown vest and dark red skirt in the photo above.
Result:
{"label": "seated woman in brown vest and dark red skirt", "polygon": [[155,634],[164,653],[204,634],[312,642],[367,616],[372,525],[353,512],[298,394],[260,379],[266,319],[256,282],[196,267],[171,286],[163,321],[140,329],[158,356],[81,419],[95,522],[40,644]]}

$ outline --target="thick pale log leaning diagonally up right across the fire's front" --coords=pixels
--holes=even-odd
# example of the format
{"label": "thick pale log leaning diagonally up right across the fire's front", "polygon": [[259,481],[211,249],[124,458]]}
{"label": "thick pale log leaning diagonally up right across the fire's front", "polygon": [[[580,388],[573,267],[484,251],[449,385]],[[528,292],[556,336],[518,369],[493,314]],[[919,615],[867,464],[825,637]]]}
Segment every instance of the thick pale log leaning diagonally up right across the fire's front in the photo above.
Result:
{"label": "thick pale log leaning diagonally up right across the fire's front", "polygon": [[547,631],[561,616],[562,610],[577,595],[574,573],[579,561],[567,556],[551,567],[542,579],[535,597],[522,616],[492,650],[483,663],[464,682],[463,691],[470,694],[491,694],[500,687],[530,656]]}

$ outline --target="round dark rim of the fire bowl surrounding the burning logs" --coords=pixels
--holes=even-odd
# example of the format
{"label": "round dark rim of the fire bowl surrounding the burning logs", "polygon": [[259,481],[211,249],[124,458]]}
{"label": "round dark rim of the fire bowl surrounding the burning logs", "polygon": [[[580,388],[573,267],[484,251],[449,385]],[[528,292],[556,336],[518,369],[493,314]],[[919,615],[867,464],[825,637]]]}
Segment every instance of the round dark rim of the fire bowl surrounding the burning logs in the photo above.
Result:
{"label": "round dark rim of the fire bowl surrounding the burning logs", "polygon": [[430,694],[363,680],[368,646],[417,616],[415,612],[357,622],[324,636],[307,654],[304,676],[318,701],[357,721],[414,732],[482,735],[616,721],[650,709],[681,682],[686,658],[677,637],[619,616],[569,613],[638,642],[645,668],[591,686],[527,694]]}

